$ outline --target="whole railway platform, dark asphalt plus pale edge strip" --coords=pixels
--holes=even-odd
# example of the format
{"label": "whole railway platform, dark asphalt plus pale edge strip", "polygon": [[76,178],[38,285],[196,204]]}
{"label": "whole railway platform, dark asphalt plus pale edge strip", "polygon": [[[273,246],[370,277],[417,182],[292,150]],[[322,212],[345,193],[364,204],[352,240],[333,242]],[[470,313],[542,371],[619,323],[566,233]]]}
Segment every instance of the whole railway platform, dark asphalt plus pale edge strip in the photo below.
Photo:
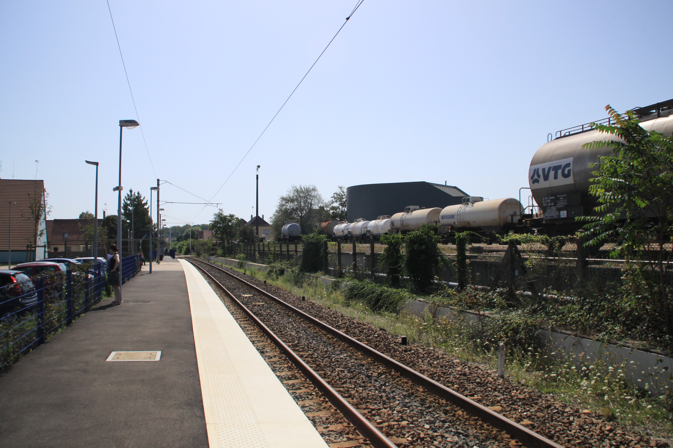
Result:
{"label": "whole railway platform, dark asphalt plus pale edge strip", "polygon": [[0,447],[326,447],[194,267],[122,293],[0,375]]}

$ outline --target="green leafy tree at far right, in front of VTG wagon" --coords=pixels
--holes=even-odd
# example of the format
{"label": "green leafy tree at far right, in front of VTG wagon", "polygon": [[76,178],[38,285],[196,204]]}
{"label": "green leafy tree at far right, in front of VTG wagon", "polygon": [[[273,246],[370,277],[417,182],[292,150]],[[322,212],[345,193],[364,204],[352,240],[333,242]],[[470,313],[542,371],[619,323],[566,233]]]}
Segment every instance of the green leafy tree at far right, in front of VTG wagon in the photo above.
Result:
{"label": "green leafy tree at far right, in front of VTG wagon", "polygon": [[666,277],[673,234],[673,137],[647,131],[631,111],[619,114],[606,106],[614,125],[593,124],[595,129],[615,138],[583,145],[586,149],[612,148],[600,157],[590,179],[589,191],[598,198],[594,210],[603,216],[583,216],[588,221],[586,246],[602,246],[614,240],[613,257],[634,261],[647,273],[652,287],[647,292],[652,304],[664,314],[670,334],[672,291]]}

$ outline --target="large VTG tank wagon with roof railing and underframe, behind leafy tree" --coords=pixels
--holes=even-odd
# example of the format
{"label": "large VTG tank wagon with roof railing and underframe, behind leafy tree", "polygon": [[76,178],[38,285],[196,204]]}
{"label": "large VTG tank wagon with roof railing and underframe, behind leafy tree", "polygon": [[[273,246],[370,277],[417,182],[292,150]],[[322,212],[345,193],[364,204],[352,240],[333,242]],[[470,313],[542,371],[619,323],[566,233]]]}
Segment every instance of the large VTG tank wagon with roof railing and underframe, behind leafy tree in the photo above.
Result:
{"label": "large VTG tank wagon with roof railing and underframe, behind leafy tree", "polygon": [[[673,99],[633,112],[646,130],[656,130],[667,136],[673,133]],[[612,118],[597,123],[614,124]],[[551,134],[550,134],[551,135]],[[528,186],[538,204],[536,213],[524,216],[528,228],[541,228],[542,232],[565,234],[577,230],[581,223],[576,216],[591,216],[598,205],[589,193],[591,163],[600,162],[601,156],[612,153],[612,148],[585,149],[583,144],[596,140],[618,140],[582,124],[556,132],[553,140],[543,144],[534,154],[528,168]]]}

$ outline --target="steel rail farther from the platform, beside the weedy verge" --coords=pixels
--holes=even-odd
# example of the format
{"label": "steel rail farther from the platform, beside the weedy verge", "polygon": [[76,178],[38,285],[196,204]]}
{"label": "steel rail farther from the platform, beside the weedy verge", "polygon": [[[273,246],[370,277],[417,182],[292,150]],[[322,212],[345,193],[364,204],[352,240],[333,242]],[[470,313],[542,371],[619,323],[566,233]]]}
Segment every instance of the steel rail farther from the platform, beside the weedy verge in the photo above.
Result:
{"label": "steel rail farther from the platform, beside the weedy verge", "polygon": [[[190,257],[193,258],[193,257]],[[407,379],[410,379],[411,382],[414,384],[417,384],[417,386],[421,386],[425,388],[428,392],[431,394],[434,394],[436,396],[439,396],[441,398],[444,398],[444,400],[455,404],[459,408],[462,408],[469,414],[472,414],[473,416],[476,416],[477,418],[483,420],[484,422],[487,422],[490,424],[492,427],[495,427],[501,431],[505,431],[512,437],[518,439],[520,443],[523,443],[527,447],[530,448],[563,448],[562,445],[559,445],[558,443],[555,443],[546,437],[543,437],[542,435],[539,435],[538,433],[534,431],[530,431],[530,429],[526,427],[522,427],[522,425],[513,422],[512,420],[509,420],[509,418],[502,416],[501,414],[498,414],[497,412],[487,408],[486,406],[483,406],[482,404],[479,404],[475,402],[474,400],[470,400],[466,396],[459,394],[455,390],[452,390],[450,388],[447,388],[444,386],[444,384],[436,382],[434,379],[431,379],[423,373],[420,373],[418,371],[415,371],[411,367],[408,367],[399,361],[396,361],[395,359],[392,359],[388,355],[384,355],[380,351],[377,351],[375,349],[372,349],[368,345],[365,345],[358,341],[357,339],[350,337],[348,334],[345,334],[336,328],[322,322],[322,320],[318,320],[311,316],[310,314],[306,314],[302,310],[299,310],[298,308],[295,308],[294,306],[288,304],[287,302],[284,302],[283,300],[277,298],[276,296],[273,296],[273,294],[264,291],[264,289],[260,289],[259,287],[256,287],[252,283],[242,279],[241,277],[238,277],[237,275],[234,275],[233,273],[227,272],[225,269],[222,269],[219,266],[213,265],[212,263],[208,263],[207,261],[203,261],[198,259],[201,263],[205,263],[211,267],[214,267],[215,269],[218,269],[219,271],[222,271],[223,273],[226,273],[227,275],[234,277],[241,281],[242,283],[245,283],[246,285],[256,289],[258,292],[263,294],[264,296],[267,296],[268,298],[275,300],[279,304],[285,306],[288,310],[296,314],[297,316],[303,318],[304,320],[308,320],[308,322],[311,322],[312,324],[322,328],[326,332],[332,334],[332,336],[336,337],[340,341],[343,341],[344,343],[347,343],[357,351],[363,353],[363,355],[367,355],[368,357],[372,359],[376,359],[376,361],[382,363],[383,365],[386,365],[386,367],[400,373],[400,375],[406,377]],[[203,269],[202,269],[203,270]]]}

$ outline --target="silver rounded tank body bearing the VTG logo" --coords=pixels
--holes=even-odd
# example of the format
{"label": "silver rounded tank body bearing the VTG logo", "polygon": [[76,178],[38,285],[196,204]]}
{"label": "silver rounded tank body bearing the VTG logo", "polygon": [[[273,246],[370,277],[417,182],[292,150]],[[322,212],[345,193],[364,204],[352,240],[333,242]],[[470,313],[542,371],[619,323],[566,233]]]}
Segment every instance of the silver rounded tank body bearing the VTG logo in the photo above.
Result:
{"label": "silver rounded tank body bearing the VTG logo", "polygon": [[[657,115],[641,117],[640,126],[667,136],[672,134],[673,116]],[[575,216],[590,216],[597,205],[589,193],[589,179],[597,167],[589,164],[600,162],[600,157],[610,155],[612,148],[584,149],[582,145],[596,140],[618,140],[616,136],[598,130],[570,130],[577,133],[568,132],[569,135],[559,132],[561,136],[537,150],[528,169],[528,185],[542,208],[544,222],[556,224],[574,222]]]}

